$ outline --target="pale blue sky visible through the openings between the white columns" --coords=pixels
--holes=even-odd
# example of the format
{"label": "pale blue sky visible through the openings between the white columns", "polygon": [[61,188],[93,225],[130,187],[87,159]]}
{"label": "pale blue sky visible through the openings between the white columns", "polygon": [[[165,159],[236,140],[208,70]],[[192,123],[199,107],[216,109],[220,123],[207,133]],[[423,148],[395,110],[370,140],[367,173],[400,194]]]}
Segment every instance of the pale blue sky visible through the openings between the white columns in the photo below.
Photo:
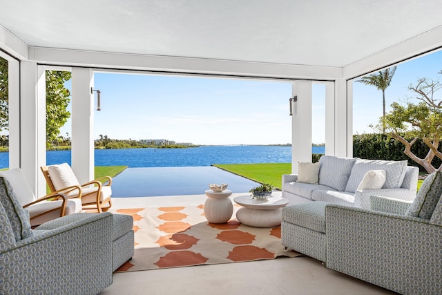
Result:
{"label": "pale blue sky visible through the openings between the white columns", "polygon": [[[398,65],[386,91],[387,111],[403,102],[410,83],[437,79],[442,52]],[[250,79],[95,73],[102,111],[95,138],[166,139],[193,144],[291,143],[291,83]],[[324,86],[313,88],[313,142],[324,142]],[[440,93],[439,95],[441,95]],[[382,93],[354,83],[354,133],[372,133],[382,115]],[[61,135],[70,133],[70,122]]]}

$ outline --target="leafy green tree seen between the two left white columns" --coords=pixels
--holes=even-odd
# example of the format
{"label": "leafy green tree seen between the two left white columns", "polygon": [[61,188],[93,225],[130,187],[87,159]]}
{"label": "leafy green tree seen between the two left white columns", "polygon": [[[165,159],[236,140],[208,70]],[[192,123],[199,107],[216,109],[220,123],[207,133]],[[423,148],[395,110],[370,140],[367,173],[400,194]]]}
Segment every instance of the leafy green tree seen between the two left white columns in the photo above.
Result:
{"label": "leafy green tree seen between the two left white columns", "polygon": [[59,70],[46,71],[46,143],[57,142],[60,128],[70,117],[67,111],[70,91],[64,83],[71,77],[70,72]]}

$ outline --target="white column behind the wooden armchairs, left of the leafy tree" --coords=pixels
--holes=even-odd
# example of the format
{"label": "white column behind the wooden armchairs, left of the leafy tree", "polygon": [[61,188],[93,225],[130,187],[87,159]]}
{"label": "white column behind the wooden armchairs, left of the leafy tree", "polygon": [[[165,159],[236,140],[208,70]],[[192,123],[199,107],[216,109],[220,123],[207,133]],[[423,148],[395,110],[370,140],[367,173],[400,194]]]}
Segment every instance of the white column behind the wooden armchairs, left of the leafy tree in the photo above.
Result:
{"label": "white column behind the wooden armchairs, left of the leafy tree", "polygon": [[20,166],[37,196],[46,194],[46,182],[39,172],[46,164],[45,71],[34,61],[20,64]]}

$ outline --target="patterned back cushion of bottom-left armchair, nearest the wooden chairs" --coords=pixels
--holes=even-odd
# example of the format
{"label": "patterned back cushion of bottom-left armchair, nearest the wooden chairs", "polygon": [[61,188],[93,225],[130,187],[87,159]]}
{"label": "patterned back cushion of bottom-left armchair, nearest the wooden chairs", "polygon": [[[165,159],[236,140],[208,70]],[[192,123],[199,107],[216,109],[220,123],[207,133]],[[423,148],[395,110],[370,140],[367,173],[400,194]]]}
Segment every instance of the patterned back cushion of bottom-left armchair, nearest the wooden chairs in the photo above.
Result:
{"label": "patterned back cushion of bottom-left armchair, nearest the wooden chairs", "polygon": [[10,182],[2,177],[0,178],[0,202],[3,204],[12,230],[14,231],[15,240],[23,240],[34,236],[30,228],[29,212],[21,207]]}

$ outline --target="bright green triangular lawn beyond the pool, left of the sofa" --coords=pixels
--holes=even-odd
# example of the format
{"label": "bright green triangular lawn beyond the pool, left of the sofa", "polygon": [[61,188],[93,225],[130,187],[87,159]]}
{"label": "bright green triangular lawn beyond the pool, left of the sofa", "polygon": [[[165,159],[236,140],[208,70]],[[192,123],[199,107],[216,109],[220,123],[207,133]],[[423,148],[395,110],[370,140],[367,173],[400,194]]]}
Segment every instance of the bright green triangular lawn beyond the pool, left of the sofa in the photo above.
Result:
{"label": "bright green triangular lawn beyond the pool, left of the sofa", "polygon": [[281,189],[282,174],[291,173],[291,163],[265,164],[213,164],[220,169],[235,173],[260,183],[269,183]]}

